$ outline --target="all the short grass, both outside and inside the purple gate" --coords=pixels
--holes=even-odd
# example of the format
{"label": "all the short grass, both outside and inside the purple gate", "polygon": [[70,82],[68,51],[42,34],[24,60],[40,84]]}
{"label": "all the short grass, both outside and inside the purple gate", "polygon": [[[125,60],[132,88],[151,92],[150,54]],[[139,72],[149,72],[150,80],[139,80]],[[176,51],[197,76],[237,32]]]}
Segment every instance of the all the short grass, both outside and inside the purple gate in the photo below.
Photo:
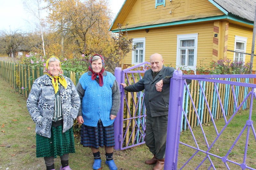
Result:
{"label": "all the short grass, both outside and inside the purple gate", "polygon": [[[254,103],[254,108],[256,105]],[[253,113],[255,113],[255,109]],[[210,150],[213,154],[224,156],[232,142],[236,139],[241,129],[244,127],[244,122],[248,120],[249,110],[239,112],[228,129],[223,132],[223,136],[213,145]],[[253,114],[252,120],[255,122],[256,114]],[[8,83],[0,79],[0,170],[12,169],[45,169],[43,158],[36,158],[36,133],[35,123],[32,121],[26,107],[26,98],[17,93]],[[224,126],[224,119],[216,121],[218,132]],[[209,145],[215,139],[216,132],[213,124],[204,124],[204,132]],[[245,130],[244,134],[246,133]],[[200,148],[206,148],[205,141],[201,129],[196,127],[193,129],[197,143]],[[244,153],[245,135],[238,140],[234,149],[229,154],[229,159],[241,163]],[[252,134],[252,133],[250,133]],[[195,146],[195,142],[190,131],[182,132],[180,140],[184,143]],[[247,165],[256,168],[256,145],[252,135],[250,135],[249,150],[247,155]],[[84,148],[79,144],[79,137],[75,138],[76,153],[70,154],[70,167],[73,170],[91,170],[93,164],[93,156],[91,149]],[[100,150],[102,161],[105,161],[104,149]],[[188,149],[180,145],[178,167],[182,166],[182,162],[195,152],[193,149]],[[146,165],[144,161],[152,157],[146,145],[136,146],[124,151],[115,151],[114,159],[119,170],[150,170],[153,165]],[[195,169],[198,163],[202,161],[205,155],[198,152],[184,169]],[[216,169],[227,169],[226,166],[215,157],[211,159]],[[228,164],[230,165],[230,164]],[[60,158],[55,159],[55,168],[60,166]],[[108,169],[102,163],[103,169]],[[208,169],[209,161],[206,161],[199,169]],[[239,166],[231,166],[230,169],[241,169]]]}

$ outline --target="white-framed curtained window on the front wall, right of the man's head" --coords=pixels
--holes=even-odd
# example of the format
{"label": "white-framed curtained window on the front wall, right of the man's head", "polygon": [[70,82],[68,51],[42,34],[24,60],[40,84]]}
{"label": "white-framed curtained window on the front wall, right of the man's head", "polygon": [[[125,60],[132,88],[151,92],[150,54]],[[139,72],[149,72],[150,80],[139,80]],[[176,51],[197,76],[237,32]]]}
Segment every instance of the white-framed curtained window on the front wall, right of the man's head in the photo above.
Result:
{"label": "white-framed curtained window on the front wall, right of the man's head", "polygon": [[177,35],[177,67],[196,69],[198,34]]}

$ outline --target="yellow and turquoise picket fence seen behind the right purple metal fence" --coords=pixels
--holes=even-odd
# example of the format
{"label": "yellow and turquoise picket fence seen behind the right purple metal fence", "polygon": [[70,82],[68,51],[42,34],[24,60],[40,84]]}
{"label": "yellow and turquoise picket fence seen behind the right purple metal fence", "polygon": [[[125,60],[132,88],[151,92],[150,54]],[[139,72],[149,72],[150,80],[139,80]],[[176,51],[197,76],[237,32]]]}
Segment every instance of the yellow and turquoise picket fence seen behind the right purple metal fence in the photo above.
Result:
{"label": "yellow and turquoise picket fence seen behind the right purple metal fence", "polygon": [[[248,78],[220,78],[220,80],[253,83],[253,79]],[[233,115],[233,113],[236,110],[236,106],[234,105],[235,99],[232,94],[231,85],[216,83],[220,95],[220,103],[216,89],[214,87],[214,83],[205,81],[200,82],[203,87],[203,91],[201,90],[201,88],[199,88],[199,83],[196,80],[192,80],[191,84],[188,85],[190,94],[196,106],[196,111],[198,113],[199,119],[196,117],[196,112],[193,108],[192,101],[188,95],[186,87],[184,88],[183,93],[183,109],[188,117],[188,121],[191,125],[191,128],[197,126],[199,124],[199,121],[205,125],[211,123],[210,112],[212,113],[214,120],[218,120],[223,117],[223,114],[225,114],[226,116]],[[251,90],[251,88],[247,87],[234,86],[237,105],[240,105],[242,103],[244,98]],[[207,98],[210,110],[207,108],[207,105],[203,97],[203,93]],[[221,105],[223,107],[224,113],[222,112]],[[250,98],[245,101],[240,110],[248,109],[249,107]],[[184,117],[182,117],[180,131],[186,130],[188,130],[187,121]]]}

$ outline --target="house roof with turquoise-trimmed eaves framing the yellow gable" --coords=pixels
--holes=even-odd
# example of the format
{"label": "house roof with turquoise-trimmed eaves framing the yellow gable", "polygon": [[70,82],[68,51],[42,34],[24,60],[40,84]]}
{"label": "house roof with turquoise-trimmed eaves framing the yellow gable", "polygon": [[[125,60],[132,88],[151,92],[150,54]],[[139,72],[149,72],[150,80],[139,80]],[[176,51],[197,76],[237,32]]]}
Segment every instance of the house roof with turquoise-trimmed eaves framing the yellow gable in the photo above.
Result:
{"label": "house roof with turquoise-trimmed eaves framing the yellow gable", "polygon": [[[112,25],[109,28],[109,31],[118,32],[118,30],[114,30],[117,23],[122,23],[125,17],[128,15],[129,11],[132,9],[132,6],[135,4],[137,0],[125,0],[123,6],[121,7],[120,11],[116,15]],[[158,26],[168,26],[168,25],[176,25],[176,24],[185,24],[191,22],[198,22],[198,21],[206,21],[206,20],[214,20],[214,19],[231,19],[234,21],[242,22],[244,24],[253,25],[254,21],[254,14],[255,14],[255,0],[208,0],[213,5],[215,5],[221,12],[214,15],[209,14],[201,14],[196,15],[195,17],[190,16],[183,16],[180,18],[165,18],[165,19],[158,19],[154,21],[142,21],[137,24],[130,24],[128,25],[127,30],[134,30],[134,29],[146,29],[150,27],[158,27]],[[204,16],[202,16],[204,15]],[[201,19],[200,19],[201,18]]]}

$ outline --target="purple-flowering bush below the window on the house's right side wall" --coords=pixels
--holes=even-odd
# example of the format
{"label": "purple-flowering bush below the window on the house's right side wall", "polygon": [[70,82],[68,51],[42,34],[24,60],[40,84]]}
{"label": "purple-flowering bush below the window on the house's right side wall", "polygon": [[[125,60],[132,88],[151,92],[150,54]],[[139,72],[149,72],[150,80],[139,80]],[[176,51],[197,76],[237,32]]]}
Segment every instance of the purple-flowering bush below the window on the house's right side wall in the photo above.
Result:
{"label": "purple-flowering bush below the window on the house's right side wall", "polygon": [[244,61],[218,60],[209,65],[210,74],[250,74],[252,63]]}

